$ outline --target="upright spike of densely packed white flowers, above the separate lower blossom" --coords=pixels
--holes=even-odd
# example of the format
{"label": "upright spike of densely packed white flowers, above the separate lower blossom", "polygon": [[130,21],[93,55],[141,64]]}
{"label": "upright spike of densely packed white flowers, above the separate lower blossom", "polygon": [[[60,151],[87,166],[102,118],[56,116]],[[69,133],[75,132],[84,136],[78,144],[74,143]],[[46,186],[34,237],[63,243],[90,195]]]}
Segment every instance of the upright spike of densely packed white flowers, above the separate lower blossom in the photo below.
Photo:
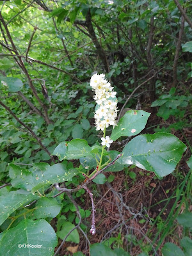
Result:
{"label": "upright spike of densely packed white flowers, above the separate lower blossom", "polygon": [[[109,125],[116,125],[117,116],[117,100],[113,92],[113,87],[105,79],[104,74],[94,74],[90,80],[90,86],[95,91],[94,99],[96,100],[99,108],[95,110],[95,125],[96,130],[104,131]],[[115,99],[114,99],[115,98]]]}

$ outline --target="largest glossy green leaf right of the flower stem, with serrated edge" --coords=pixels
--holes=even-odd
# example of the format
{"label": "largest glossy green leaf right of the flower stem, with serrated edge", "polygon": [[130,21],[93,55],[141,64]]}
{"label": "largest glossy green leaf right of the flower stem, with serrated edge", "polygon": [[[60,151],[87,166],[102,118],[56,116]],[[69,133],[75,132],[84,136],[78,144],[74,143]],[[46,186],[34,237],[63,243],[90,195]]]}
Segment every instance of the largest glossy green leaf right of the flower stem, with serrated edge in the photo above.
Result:
{"label": "largest glossy green leaf right of the flower stem, with serrated edge", "polygon": [[122,164],[135,164],[141,169],[164,177],[175,170],[185,150],[186,145],[173,134],[143,134],[125,146],[123,156],[118,160],[122,161]]}

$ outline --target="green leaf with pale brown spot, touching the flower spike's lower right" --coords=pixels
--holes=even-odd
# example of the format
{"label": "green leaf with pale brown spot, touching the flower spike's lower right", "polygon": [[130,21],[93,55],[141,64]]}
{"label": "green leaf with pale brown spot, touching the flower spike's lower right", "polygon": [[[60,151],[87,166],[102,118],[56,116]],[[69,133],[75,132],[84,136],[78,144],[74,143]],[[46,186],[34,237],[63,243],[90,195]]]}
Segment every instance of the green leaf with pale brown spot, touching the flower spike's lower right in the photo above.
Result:
{"label": "green leaf with pale brown spot, touching the flower spike's lower right", "polygon": [[115,141],[121,136],[133,136],[140,133],[147,124],[150,113],[143,110],[129,110],[120,118],[111,133],[111,140]]}

